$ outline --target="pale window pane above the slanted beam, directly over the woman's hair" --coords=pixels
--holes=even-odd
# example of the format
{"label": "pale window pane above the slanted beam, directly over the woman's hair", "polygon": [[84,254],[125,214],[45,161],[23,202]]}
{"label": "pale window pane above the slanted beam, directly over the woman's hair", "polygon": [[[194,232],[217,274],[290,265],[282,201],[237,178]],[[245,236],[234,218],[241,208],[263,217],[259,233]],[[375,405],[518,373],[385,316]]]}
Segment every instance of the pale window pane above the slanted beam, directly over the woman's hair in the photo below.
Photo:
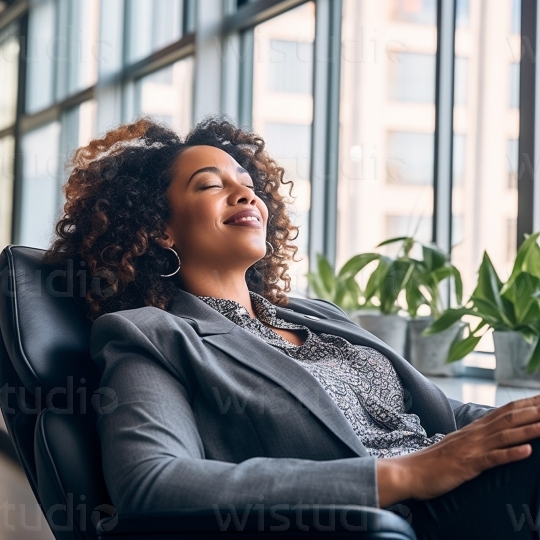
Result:
{"label": "pale window pane above the slanted beam, directly over the woman's hair", "polygon": [[182,37],[182,0],[130,0],[127,61],[136,62]]}

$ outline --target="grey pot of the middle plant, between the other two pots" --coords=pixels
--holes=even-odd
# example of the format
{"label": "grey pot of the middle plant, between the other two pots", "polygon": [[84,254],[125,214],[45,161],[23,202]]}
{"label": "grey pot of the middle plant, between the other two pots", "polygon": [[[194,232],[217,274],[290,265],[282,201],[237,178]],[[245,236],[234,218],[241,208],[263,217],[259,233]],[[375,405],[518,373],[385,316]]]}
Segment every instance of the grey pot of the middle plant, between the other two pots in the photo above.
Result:
{"label": "grey pot of the middle plant, between the other two pots", "polygon": [[446,363],[454,338],[465,328],[457,322],[443,332],[423,336],[422,332],[433,322],[433,317],[409,321],[409,362],[423,375],[457,377],[463,374],[463,361]]}

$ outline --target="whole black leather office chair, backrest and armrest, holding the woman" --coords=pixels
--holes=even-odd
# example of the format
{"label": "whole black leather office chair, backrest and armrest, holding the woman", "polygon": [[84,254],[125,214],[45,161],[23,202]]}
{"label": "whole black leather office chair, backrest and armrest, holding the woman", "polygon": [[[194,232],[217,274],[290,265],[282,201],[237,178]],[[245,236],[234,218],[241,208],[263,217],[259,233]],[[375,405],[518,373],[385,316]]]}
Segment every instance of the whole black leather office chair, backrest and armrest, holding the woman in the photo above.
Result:
{"label": "whole black leather office chair, backrest and armrest, holding the woman", "polygon": [[[392,512],[360,506],[229,508],[119,515],[102,476],[99,373],[90,321],[43,250],[0,254],[0,404],[19,461],[58,539],[348,538],[416,540]],[[237,519],[235,519],[235,517]],[[245,521],[244,521],[245,518]]]}

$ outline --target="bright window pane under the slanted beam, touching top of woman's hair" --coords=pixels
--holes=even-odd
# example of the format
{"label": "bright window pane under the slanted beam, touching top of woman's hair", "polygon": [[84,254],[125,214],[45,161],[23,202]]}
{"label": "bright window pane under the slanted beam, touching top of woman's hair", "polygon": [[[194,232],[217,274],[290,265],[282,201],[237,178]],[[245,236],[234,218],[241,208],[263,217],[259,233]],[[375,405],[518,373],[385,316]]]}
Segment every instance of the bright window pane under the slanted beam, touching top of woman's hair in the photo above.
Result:
{"label": "bright window pane under the slanted beam, touching top of woman's hair", "polygon": [[185,135],[192,126],[193,58],[187,57],[137,81],[135,116],[145,114]]}

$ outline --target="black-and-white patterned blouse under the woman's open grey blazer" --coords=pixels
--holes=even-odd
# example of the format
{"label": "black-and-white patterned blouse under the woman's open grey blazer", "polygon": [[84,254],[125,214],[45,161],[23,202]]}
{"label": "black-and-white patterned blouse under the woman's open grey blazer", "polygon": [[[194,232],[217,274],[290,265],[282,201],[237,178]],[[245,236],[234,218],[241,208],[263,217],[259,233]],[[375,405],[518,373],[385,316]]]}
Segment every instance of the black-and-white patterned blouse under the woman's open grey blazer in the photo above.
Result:
{"label": "black-and-white patterned blouse under the woman's open grey blazer", "polygon": [[[370,455],[379,458],[409,454],[440,441],[428,437],[416,414],[405,412],[404,392],[392,362],[383,354],[331,334],[315,334],[301,324],[276,317],[274,305],[250,291],[257,318],[238,302],[198,296],[222,315],[280,349],[304,367],[328,392],[350,422]],[[304,330],[307,338],[294,345],[271,328]]]}

